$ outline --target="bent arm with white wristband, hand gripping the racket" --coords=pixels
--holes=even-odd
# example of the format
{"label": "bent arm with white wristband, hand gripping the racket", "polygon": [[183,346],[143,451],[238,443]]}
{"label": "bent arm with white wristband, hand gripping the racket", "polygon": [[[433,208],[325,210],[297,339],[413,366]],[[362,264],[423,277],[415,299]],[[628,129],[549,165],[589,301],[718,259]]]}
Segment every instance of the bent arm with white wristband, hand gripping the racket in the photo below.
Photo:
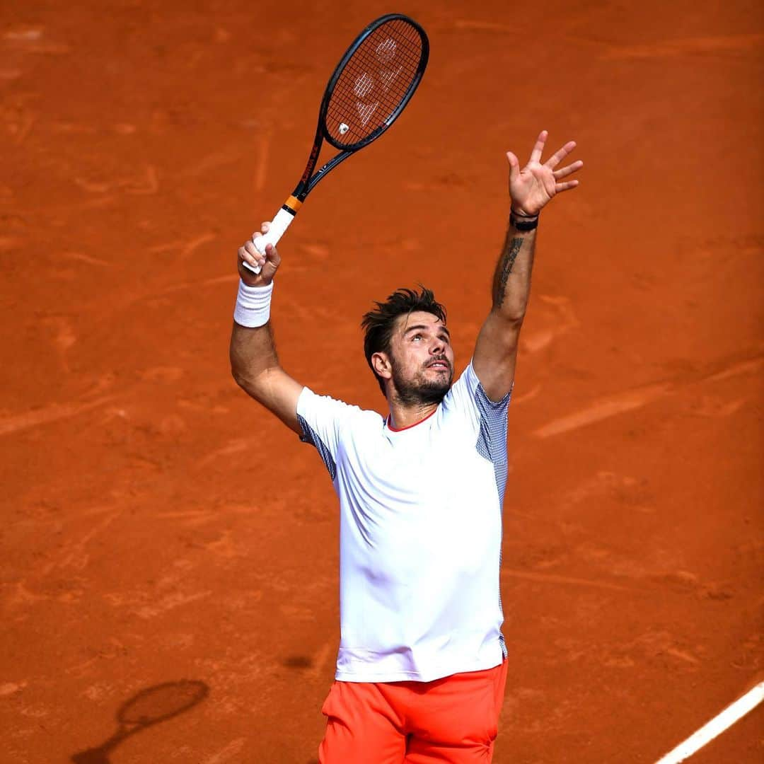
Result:
{"label": "bent arm with white wristband, hand gripping the racket", "polygon": [[[269,224],[263,223],[261,231],[265,233]],[[260,274],[247,270],[242,262],[251,265],[261,265]],[[250,321],[248,314],[259,313],[265,317],[267,305],[270,303],[270,290],[274,274],[281,263],[281,257],[273,244],[265,248],[265,256],[261,255],[254,244],[248,241],[238,250],[238,272],[247,287],[254,287],[248,294],[240,292],[239,303],[253,306],[244,308],[238,317],[242,321]],[[237,306],[237,311],[241,310]],[[270,331],[270,320],[264,325],[247,327],[234,321],[231,332],[231,374],[239,387],[251,397],[263,404],[298,434],[303,429],[297,421],[297,399],[303,391],[299,384],[279,365],[279,359],[274,345],[274,335]]]}

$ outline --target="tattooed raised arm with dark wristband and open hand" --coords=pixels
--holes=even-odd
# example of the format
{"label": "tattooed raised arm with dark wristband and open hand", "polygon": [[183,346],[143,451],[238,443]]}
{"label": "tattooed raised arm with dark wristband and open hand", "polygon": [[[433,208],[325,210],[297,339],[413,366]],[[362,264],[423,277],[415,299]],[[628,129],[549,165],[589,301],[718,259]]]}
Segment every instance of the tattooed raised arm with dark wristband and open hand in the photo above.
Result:
{"label": "tattooed raised arm with dark wristband and open hand", "polygon": [[500,400],[512,388],[515,377],[517,342],[530,295],[533,251],[539,212],[555,194],[578,186],[578,180],[563,178],[583,166],[578,161],[559,170],[555,167],[575,148],[569,141],[541,163],[547,132],[539,134],[530,159],[523,169],[511,152],[510,224],[503,250],[494,272],[493,305],[475,345],[472,365],[490,400]]}

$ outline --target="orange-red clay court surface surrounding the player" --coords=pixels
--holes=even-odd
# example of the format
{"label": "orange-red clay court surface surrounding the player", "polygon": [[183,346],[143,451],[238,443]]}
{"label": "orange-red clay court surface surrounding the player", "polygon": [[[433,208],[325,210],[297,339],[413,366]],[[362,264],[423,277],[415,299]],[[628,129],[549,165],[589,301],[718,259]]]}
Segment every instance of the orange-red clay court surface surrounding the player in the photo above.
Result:
{"label": "orange-red clay court surface surrounding the player", "polygon": [[[4,5],[3,764],[315,759],[338,513],[318,456],[229,376],[235,251],[390,9]],[[395,9],[429,31],[429,70],[283,239],[281,360],[383,410],[358,321],[421,280],[463,367],[503,152],[578,141],[510,407],[494,760],[650,764],[762,678],[762,11]],[[761,730],[759,707],[693,764],[759,762]]]}

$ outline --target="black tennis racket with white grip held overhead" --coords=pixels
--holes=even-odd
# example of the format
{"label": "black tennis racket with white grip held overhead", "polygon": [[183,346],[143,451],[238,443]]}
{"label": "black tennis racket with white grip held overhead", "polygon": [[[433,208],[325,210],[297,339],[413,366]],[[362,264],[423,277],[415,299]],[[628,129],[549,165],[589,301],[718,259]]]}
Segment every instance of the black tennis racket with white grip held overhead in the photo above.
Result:
{"label": "black tennis racket with white grip held overhead", "polygon": [[[257,251],[265,254],[267,244],[275,246],[319,180],[393,124],[419,85],[428,57],[425,31],[399,13],[377,18],[355,38],[326,86],[305,172],[267,234],[252,239]],[[324,141],[339,153],[313,172]],[[255,274],[261,270],[247,262],[244,267]]]}

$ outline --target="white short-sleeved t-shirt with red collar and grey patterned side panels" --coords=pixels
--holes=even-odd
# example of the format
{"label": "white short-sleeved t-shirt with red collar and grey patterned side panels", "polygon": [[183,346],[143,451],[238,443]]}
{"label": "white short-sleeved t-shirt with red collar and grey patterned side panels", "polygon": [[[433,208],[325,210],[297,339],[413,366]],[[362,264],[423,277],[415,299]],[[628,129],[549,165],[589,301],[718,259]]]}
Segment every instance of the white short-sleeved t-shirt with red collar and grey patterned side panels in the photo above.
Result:
{"label": "white short-sleeved t-shirt with red collar and grey patterned side panels", "polygon": [[300,393],[340,503],[342,681],[432,681],[507,655],[499,592],[510,393],[488,400],[470,363],[427,419]]}

